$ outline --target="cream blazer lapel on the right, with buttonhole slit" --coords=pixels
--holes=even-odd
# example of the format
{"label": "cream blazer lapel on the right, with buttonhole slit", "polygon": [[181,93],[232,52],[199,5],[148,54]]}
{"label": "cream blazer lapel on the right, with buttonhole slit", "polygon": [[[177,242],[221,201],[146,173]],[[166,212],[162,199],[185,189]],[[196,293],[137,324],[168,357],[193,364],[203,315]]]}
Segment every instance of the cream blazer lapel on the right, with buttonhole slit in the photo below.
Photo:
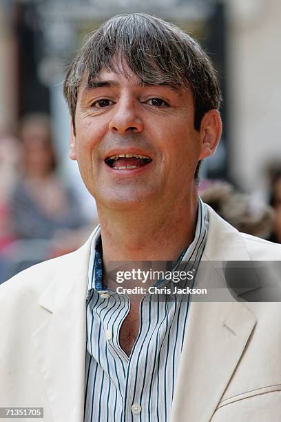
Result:
{"label": "cream blazer lapel on the right, with buttonhole slit", "polygon": [[239,232],[211,208],[202,259],[209,265],[203,272],[199,267],[196,287],[219,287],[220,297],[216,301],[214,289],[209,302],[194,301],[189,305],[170,422],[211,420],[256,325],[256,318],[247,307],[233,301],[225,288],[223,272],[213,265],[214,261],[248,261],[249,254]]}

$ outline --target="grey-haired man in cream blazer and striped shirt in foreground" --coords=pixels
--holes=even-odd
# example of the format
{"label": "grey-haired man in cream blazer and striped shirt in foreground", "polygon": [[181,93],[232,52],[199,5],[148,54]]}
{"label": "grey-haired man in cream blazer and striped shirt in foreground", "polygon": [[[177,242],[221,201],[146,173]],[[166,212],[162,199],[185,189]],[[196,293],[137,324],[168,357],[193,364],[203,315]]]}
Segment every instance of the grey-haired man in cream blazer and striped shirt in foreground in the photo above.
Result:
{"label": "grey-haired man in cream blazer and striped shirt in foreground", "polygon": [[233,301],[221,277],[222,302],[133,300],[106,275],[112,261],[192,262],[209,287],[217,272],[202,277],[200,260],[281,257],[198,200],[221,132],[207,55],[165,21],[114,17],[79,50],[64,94],[100,227],[1,288],[1,406],[43,407],[48,422],[280,421],[280,303]]}

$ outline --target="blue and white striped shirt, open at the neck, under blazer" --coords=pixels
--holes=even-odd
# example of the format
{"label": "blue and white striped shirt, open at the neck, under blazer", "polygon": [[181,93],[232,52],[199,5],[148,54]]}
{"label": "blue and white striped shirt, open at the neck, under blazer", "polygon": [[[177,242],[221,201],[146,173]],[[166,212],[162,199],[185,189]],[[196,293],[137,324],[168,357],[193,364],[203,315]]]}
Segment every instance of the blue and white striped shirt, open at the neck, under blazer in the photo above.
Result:
{"label": "blue and white striped shirt, open at the neck, under blazer", "polygon": [[[195,270],[202,257],[209,225],[199,199],[194,241],[180,254],[174,270]],[[183,266],[184,265],[184,266]],[[163,285],[158,281],[155,285]],[[140,302],[140,326],[129,357],[119,333],[130,299],[103,285],[101,232],[92,240],[87,288],[87,350],[84,422],[167,422],[185,338],[187,300]]]}

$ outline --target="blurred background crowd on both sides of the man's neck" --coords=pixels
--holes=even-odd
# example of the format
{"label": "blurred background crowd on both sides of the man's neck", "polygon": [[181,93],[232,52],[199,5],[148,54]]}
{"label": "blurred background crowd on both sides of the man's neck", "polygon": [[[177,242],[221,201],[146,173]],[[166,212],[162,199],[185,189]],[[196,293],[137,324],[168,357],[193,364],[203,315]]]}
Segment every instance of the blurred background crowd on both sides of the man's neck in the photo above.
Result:
{"label": "blurred background crowd on both sides of the man's neck", "polygon": [[[281,163],[268,166],[267,201],[225,181],[202,180],[199,193],[242,232],[281,243]],[[59,177],[52,126],[45,114],[25,117],[17,134],[0,121],[0,283],[45,259],[76,250],[95,223]]]}

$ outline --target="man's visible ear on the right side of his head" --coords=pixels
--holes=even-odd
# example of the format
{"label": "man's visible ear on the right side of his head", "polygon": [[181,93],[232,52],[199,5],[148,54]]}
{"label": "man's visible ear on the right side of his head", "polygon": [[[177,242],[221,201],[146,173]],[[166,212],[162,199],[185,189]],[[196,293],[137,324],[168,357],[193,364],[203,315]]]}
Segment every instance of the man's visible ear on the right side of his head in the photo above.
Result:
{"label": "man's visible ear on the right side of his head", "polygon": [[222,121],[218,110],[209,110],[202,117],[200,124],[200,157],[205,159],[214,154],[220,135],[222,133]]}

